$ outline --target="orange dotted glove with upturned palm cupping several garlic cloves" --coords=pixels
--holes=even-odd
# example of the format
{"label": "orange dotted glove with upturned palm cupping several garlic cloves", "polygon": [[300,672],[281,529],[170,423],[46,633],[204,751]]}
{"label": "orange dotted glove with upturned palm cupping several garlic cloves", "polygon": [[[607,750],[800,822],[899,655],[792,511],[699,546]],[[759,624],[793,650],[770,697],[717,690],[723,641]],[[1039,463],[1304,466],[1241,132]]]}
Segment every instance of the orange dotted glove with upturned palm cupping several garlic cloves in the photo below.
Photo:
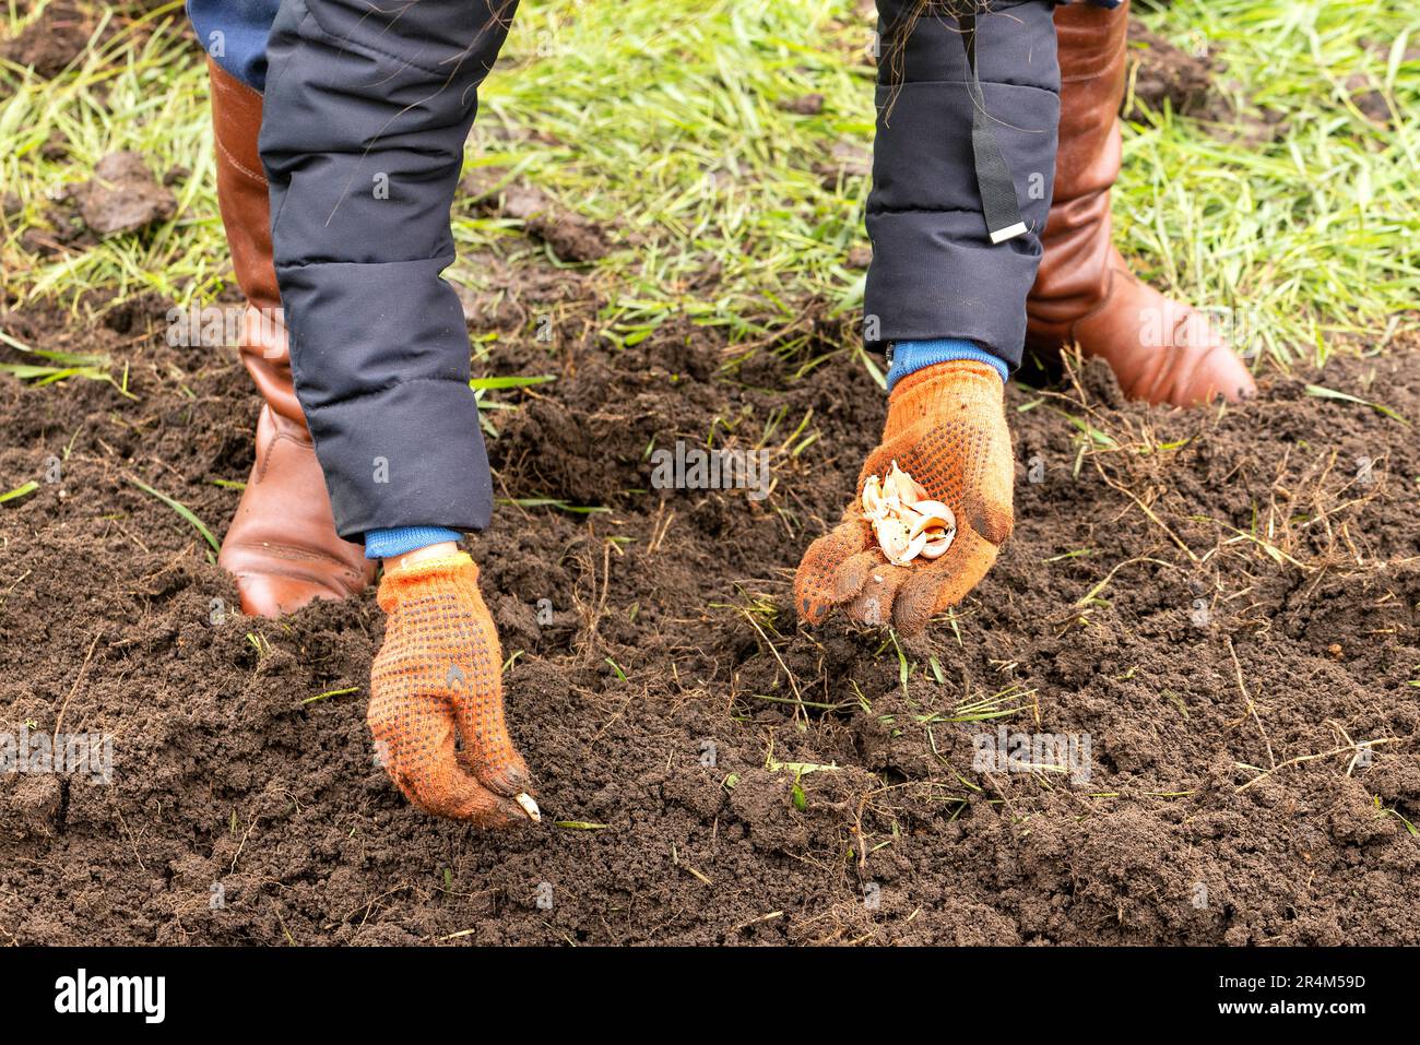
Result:
{"label": "orange dotted glove with upturned palm cupping several garlic cloves", "polygon": [[[909,373],[888,400],[882,446],[868,456],[843,521],[814,541],[794,578],[799,616],[811,625],[842,606],[855,620],[920,632],[958,603],[995,562],[1011,534],[1015,460],[1003,382],[988,365],[960,361]],[[862,511],[863,483],[892,463],[956,513],[957,535],[937,559],[895,567]]]}

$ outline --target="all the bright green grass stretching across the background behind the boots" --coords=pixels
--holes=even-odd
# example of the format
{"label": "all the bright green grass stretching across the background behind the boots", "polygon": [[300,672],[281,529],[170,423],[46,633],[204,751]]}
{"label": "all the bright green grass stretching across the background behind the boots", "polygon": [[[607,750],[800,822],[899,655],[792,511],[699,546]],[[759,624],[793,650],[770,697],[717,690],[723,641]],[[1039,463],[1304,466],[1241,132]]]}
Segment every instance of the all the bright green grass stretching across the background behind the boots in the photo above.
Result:
{"label": "all the bright green grass stretching across the background behind the boots", "polygon": [[[0,230],[0,278],[23,300],[77,311],[97,290],[206,301],[230,270],[202,54],[178,4],[136,18],[116,10],[118,34],[53,82],[0,67],[0,182],[24,204]],[[1116,240],[1140,273],[1238,310],[1240,339],[1284,365],[1414,325],[1420,11],[1176,0],[1137,17],[1186,48],[1207,41],[1220,88],[1252,115],[1281,116],[1277,138],[1257,146],[1169,112],[1126,128]],[[0,7],[0,28],[21,24],[13,0]],[[845,258],[865,243],[866,180],[825,186],[814,165],[838,143],[869,145],[870,28],[852,0],[524,3],[467,160],[513,168],[618,239],[642,237],[596,266],[608,300],[598,322],[612,344],[682,312],[736,339],[772,337],[809,302],[861,304],[863,274]],[[1356,108],[1367,89],[1389,99],[1390,126]],[[819,115],[780,108],[804,94],[824,95]],[[41,155],[54,132],[68,159]],[[67,257],[26,250],[24,231],[44,229],[47,195],[115,149],[143,152],[159,175],[192,172],[176,189],[178,216]],[[454,224],[466,257],[542,253],[515,223],[469,207]],[[719,287],[692,292],[711,263]],[[450,277],[497,291],[486,271],[462,260]]]}

